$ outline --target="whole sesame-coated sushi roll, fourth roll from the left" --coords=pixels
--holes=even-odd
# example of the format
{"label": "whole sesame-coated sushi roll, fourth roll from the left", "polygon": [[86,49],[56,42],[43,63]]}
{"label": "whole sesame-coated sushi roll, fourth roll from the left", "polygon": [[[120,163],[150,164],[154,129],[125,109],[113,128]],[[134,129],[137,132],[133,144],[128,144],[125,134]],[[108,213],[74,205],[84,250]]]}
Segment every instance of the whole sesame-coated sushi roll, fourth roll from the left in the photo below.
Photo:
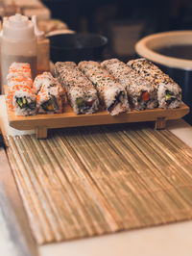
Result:
{"label": "whole sesame-coated sushi roll, fourth roll from the left", "polygon": [[127,91],[124,86],[117,83],[99,63],[81,62],[78,67],[95,86],[102,104],[110,115],[119,115],[122,112],[130,111]]}

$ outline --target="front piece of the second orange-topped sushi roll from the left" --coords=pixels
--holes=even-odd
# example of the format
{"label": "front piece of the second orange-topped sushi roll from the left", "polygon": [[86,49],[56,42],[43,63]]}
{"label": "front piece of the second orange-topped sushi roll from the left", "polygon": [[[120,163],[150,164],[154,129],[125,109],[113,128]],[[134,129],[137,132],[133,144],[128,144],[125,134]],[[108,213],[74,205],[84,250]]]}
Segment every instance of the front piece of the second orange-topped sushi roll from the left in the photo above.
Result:
{"label": "front piece of the second orange-topped sushi roll from the left", "polygon": [[[54,81],[54,83],[52,83]],[[63,112],[63,99],[60,94],[60,84],[51,80],[44,84],[36,96],[38,113],[60,114]]]}

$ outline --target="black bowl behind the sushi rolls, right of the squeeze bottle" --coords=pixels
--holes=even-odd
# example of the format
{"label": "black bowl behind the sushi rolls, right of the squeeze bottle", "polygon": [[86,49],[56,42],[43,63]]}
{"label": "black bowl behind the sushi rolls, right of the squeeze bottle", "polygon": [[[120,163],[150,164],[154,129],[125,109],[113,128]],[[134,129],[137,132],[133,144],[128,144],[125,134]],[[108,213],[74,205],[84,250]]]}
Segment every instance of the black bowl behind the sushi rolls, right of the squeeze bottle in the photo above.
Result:
{"label": "black bowl behind the sushi rolls, right of the squeeze bottle", "polygon": [[108,38],[98,34],[60,34],[50,39],[51,61],[75,62],[100,61]]}

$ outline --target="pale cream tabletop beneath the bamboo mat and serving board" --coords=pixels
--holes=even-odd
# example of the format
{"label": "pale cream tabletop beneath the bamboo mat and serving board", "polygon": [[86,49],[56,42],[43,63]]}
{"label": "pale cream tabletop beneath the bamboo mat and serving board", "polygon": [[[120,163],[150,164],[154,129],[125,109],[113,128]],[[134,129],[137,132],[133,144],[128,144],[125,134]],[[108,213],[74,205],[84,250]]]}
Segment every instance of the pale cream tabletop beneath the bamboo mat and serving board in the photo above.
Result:
{"label": "pale cream tabletop beneath the bamboo mat and serving board", "polygon": [[[26,134],[26,132],[9,127],[4,96],[0,96],[0,109],[3,132],[9,135]],[[192,147],[192,126],[179,119],[167,121],[167,128]],[[191,256],[191,231],[192,221],[184,221],[79,241],[41,245],[38,246],[38,251],[40,256]],[[6,243],[4,243],[1,230],[0,248],[1,252],[6,252]]]}

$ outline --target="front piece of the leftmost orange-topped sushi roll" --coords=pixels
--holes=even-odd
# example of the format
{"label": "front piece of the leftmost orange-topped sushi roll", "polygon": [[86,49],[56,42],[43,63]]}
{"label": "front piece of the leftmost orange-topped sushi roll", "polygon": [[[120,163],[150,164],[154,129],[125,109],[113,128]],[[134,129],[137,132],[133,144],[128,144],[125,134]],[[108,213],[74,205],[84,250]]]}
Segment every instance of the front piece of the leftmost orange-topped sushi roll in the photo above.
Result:
{"label": "front piece of the leftmost orange-topped sushi roll", "polygon": [[27,86],[12,88],[12,109],[15,115],[36,115],[36,95]]}

